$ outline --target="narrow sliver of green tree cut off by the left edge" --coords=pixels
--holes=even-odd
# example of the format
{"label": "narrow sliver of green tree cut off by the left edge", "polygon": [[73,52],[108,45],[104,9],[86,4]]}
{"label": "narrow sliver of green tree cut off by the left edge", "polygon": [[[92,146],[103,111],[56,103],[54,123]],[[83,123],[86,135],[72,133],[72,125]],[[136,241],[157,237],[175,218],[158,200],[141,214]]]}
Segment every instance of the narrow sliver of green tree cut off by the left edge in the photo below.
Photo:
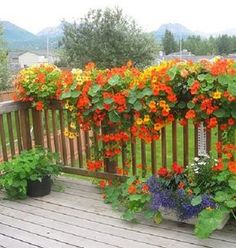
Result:
{"label": "narrow sliver of green tree cut off by the left edge", "polygon": [[0,26],[0,91],[9,87],[8,53]]}

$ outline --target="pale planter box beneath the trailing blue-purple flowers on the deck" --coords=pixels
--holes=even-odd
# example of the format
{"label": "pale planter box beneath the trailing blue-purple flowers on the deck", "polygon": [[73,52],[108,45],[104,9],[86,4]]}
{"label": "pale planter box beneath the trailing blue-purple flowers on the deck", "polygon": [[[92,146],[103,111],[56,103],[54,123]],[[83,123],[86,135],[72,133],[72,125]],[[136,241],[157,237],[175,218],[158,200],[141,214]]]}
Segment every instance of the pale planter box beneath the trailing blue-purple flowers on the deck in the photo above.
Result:
{"label": "pale planter box beneath the trailing blue-purple flowers on the deck", "polygon": [[[187,219],[187,220],[179,220],[175,214],[175,211],[172,209],[160,208],[159,211],[160,211],[161,216],[164,220],[182,222],[182,223],[191,224],[191,225],[195,225],[197,222],[197,217],[193,217],[193,218]],[[218,230],[221,230],[224,228],[224,226],[226,225],[226,223],[229,220],[229,217],[230,217],[229,213],[225,214],[224,219],[222,220],[220,225],[217,227]]]}

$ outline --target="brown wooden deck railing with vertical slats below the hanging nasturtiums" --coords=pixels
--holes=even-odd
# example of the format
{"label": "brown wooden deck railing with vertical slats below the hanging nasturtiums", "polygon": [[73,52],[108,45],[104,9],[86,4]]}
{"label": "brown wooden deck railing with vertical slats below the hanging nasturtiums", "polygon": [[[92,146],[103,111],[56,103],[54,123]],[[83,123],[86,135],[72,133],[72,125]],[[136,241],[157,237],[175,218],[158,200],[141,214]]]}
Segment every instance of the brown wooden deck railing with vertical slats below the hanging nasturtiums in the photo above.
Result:
{"label": "brown wooden deck railing with vertical slats below the hanging nasturtiums", "polygon": [[[91,158],[92,145],[98,145],[97,134],[80,130],[78,137],[68,139],[64,128],[68,126],[68,116],[59,102],[50,105],[47,110],[36,111],[29,103],[0,103],[0,160],[7,161],[22,150],[41,145],[60,155],[63,170],[84,176],[113,178],[115,174],[90,172],[86,161]],[[215,130],[214,132],[217,132]],[[130,174],[143,176],[147,171],[155,174],[161,166],[178,162],[186,166],[198,155],[198,133],[192,124],[182,127],[176,121],[161,130],[158,141],[146,144],[143,140],[131,137],[128,151],[131,153]],[[211,133],[207,134],[207,150],[211,149]],[[220,138],[220,132],[218,132]],[[213,141],[217,140],[217,135]],[[127,149],[122,149],[118,158],[120,168],[127,163]]]}

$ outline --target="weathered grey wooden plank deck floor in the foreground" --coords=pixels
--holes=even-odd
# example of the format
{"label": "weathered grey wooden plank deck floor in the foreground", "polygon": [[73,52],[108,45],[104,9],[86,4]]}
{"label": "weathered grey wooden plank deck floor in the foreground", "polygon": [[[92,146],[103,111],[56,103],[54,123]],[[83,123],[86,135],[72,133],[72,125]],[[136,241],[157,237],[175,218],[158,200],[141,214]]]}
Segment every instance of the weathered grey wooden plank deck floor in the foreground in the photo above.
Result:
{"label": "weathered grey wooden plank deck floor in the foreground", "polygon": [[157,226],[122,221],[103,203],[99,190],[84,180],[60,177],[63,187],[42,198],[0,200],[0,247],[6,248],[235,248],[236,224],[208,240],[196,239],[193,227],[165,221]]}

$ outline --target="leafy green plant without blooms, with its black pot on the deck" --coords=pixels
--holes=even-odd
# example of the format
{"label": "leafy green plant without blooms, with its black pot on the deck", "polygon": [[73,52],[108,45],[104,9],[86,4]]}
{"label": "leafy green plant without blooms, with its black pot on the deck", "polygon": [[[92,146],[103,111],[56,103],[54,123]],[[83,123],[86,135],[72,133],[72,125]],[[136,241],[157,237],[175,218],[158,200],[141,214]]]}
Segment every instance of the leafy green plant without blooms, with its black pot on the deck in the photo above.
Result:
{"label": "leafy green plant without blooms, with its black pot on the deck", "polygon": [[43,148],[23,151],[0,165],[0,185],[8,198],[24,199],[50,193],[52,176],[59,174],[57,156]]}

